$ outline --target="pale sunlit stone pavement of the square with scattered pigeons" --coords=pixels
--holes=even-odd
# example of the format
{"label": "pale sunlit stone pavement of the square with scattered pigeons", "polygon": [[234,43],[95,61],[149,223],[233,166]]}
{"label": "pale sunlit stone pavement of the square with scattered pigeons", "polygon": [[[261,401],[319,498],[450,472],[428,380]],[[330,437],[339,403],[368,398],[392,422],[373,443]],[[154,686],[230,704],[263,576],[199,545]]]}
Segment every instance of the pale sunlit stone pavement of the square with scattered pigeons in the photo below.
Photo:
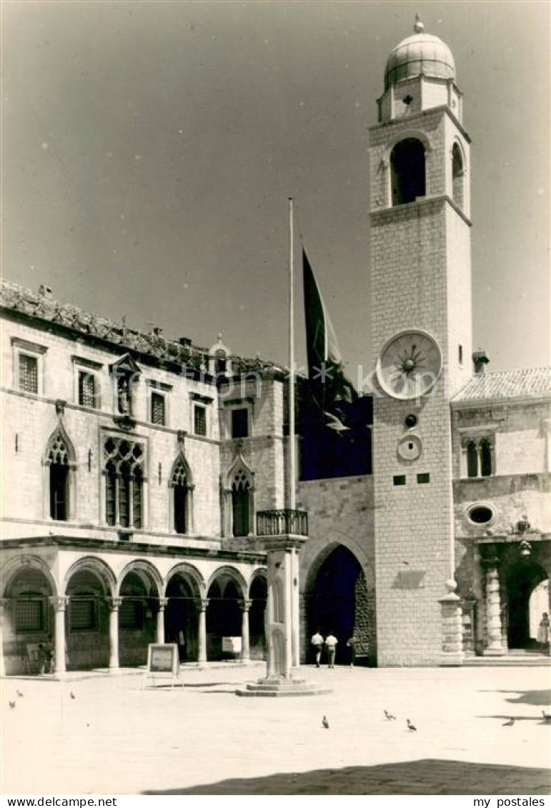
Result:
{"label": "pale sunlit stone pavement of the square with scattered pigeons", "polygon": [[172,690],[136,674],[2,680],[2,793],[551,790],[549,668],[305,667],[333,692],[234,695],[263,670],[185,667]]}

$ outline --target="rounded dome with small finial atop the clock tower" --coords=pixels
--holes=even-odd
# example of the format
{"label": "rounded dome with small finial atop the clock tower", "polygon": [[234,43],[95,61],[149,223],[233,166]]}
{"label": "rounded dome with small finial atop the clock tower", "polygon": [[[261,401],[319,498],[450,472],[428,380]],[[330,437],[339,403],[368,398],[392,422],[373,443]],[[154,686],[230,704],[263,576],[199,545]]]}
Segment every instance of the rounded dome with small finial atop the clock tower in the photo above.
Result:
{"label": "rounded dome with small finial atop the clock tower", "polygon": [[414,76],[456,78],[452,51],[438,36],[424,32],[419,15],[415,20],[414,32],[390,53],[385,68],[385,90],[404,78]]}

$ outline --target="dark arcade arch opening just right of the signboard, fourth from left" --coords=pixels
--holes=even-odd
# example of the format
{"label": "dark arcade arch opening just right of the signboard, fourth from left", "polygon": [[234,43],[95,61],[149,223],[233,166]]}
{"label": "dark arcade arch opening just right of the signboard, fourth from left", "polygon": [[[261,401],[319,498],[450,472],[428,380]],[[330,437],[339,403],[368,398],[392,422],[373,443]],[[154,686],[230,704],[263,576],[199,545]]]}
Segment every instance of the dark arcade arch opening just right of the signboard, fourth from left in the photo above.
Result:
{"label": "dark arcade arch opening just right of the signboard, fourth from left", "polygon": [[199,659],[200,591],[196,581],[177,572],[166,586],[165,641],[179,647],[180,662]]}

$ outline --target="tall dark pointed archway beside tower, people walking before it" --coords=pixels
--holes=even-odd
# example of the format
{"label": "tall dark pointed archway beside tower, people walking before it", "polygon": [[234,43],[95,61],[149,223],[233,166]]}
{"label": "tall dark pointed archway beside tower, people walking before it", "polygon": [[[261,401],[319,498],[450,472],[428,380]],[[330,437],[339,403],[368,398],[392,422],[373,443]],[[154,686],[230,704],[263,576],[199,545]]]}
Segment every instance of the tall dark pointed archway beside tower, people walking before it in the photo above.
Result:
{"label": "tall dark pointed archway beside tower, people walking before it", "polygon": [[347,640],[354,634],[358,654],[368,653],[368,591],[355,555],[338,545],[319,567],[308,595],[308,642],[316,630],[338,639],[335,662],[350,661]]}

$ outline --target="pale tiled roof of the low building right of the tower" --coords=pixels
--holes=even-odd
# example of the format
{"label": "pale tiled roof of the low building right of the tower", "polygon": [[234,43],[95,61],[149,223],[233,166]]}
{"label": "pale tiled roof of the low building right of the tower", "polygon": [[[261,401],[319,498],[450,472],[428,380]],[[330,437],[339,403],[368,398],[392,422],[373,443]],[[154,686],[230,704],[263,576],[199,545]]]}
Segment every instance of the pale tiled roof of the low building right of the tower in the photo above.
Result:
{"label": "pale tiled roof of the low building right of the tower", "polygon": [[488,398],[551,397],[551,367],[521,368],[498,373],[477,373],[453,398],[453,402]]}

